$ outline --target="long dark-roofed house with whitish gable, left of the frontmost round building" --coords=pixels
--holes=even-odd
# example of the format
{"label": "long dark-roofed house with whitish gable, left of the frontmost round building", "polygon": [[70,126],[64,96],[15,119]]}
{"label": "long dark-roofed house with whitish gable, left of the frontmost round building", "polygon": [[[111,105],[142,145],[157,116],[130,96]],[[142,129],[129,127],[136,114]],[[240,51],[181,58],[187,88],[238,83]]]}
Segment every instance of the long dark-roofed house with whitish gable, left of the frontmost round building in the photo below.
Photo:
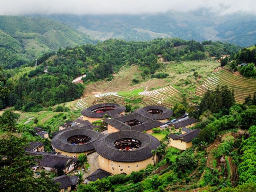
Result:
{"label": "long dark-roofed house with whitish gable, left of the frontmost round building", "polygon": [[78,159],[59,155],[59,154],[51,154],[46,152],[34,152],[34,151],[26,151],[28,154],[35,156],[35,155],[42,155],[42,159],[36,159],[38,163],[37,168],[42,168],[47,171],[55,171],[55,166],[57,165],[64,165],[64,172],[68,173],[74,170],[77,167]]}

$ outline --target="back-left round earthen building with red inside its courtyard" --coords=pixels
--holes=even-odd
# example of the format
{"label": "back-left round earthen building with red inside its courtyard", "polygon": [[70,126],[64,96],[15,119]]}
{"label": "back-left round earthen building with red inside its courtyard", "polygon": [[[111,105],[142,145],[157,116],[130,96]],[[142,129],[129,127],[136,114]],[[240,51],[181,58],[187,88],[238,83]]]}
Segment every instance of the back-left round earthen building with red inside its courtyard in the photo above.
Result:
{"label": "back-left round earthen building with red inside its courtyard", "polygon": [[124,114],[125,110],[125,106],[116,103],[103,103],[85,108],[82,110],[81,114],[83,115],[83,120],[94,122],[102,119],[105,114],[108,116],[114,116],[116,114],[121,115]]}

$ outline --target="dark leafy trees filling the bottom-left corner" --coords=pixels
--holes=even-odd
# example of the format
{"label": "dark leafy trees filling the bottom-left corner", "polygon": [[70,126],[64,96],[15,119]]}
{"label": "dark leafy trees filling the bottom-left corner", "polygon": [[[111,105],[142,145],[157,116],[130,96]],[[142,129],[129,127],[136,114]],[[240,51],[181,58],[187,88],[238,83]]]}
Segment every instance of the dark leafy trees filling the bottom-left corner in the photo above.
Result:
{"label": "dark leafy trees filling the bottom-left corner", "polygon": [[[0,140],[0,188],[5,192],[59,192],[59,185],[54,184],[44,172],[39,178],[34,178],[31,166],[34,166],[38,156],[25,155],[24,148],[28,146],[25,138],[9,135]],[[4,158],[3,158],[4,157]]]}

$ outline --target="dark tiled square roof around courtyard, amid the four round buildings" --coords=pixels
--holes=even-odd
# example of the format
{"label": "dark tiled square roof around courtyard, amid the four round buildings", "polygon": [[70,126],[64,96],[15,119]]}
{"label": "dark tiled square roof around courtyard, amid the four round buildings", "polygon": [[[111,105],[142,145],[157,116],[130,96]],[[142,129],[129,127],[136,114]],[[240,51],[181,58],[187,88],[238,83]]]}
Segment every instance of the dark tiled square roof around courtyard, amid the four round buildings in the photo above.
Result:
{"label": "dark tiled square roof around courtyard, amid the four round buildings", "polygon": [[[142,124],[138,124],[136,126],[129,126],[128,124],[125,124],[124,122],[130,121],[130,120],[138,120],[142,122]],[[144,130],[150,130],[152,128],[160,127],[164,125],[163,123],[152,120],[144,115],[138,114],[138,113],[131,113],[128,115],[124,115],[117,118],[112,119],[104,119],[104,121],[113,126],[114,128],[122,131],[122,130],[134,130],[134,131],[144,131]]]}

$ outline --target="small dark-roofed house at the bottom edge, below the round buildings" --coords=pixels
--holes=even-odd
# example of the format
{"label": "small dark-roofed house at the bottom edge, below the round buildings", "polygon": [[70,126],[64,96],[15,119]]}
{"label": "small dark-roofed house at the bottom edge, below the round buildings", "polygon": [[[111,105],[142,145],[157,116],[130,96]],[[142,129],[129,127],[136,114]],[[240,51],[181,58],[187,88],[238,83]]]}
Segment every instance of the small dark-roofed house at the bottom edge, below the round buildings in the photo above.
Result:
{"label": "small dark-roofed house at the bottom edge, below the round buildings", "polygon": [[62,175],[53,180],[60,184],[60,192],[74,191],[77,187],[78,176]]}

